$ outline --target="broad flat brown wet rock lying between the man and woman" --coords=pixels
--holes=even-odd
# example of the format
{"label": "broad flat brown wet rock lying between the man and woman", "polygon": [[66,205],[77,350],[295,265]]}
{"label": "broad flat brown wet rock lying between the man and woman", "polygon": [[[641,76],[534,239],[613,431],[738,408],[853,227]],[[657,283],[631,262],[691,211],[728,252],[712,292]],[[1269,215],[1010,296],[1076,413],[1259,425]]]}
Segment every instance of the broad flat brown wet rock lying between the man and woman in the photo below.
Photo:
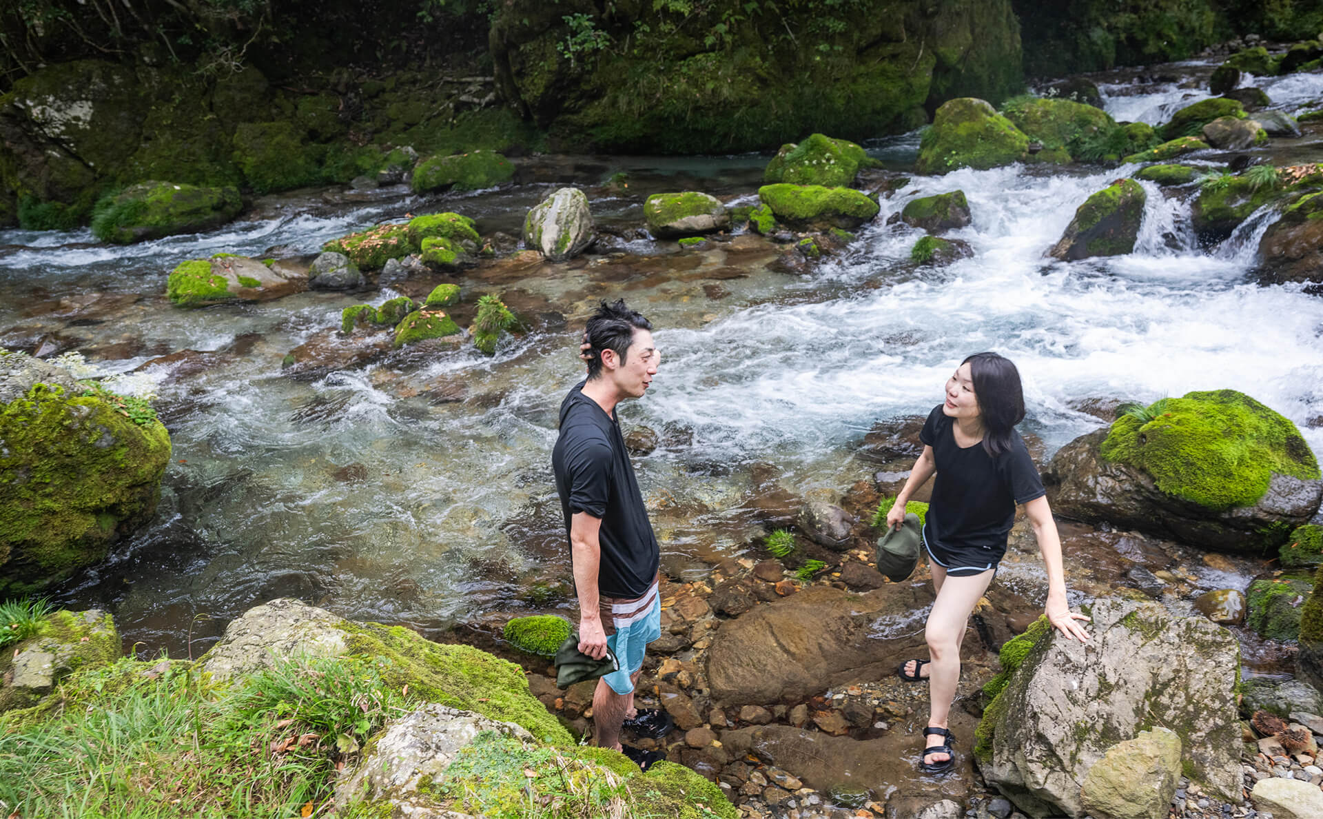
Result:
{"label": "broad flat brown wet rock lying between the man and woman", "polygon": [[927,599],[908,586],[865,594],[811,586],[725,621],[708,652],[712,699],[794,703],[828,685],[889,675],[896,656],[923,644],[921,632],[900,623]]}

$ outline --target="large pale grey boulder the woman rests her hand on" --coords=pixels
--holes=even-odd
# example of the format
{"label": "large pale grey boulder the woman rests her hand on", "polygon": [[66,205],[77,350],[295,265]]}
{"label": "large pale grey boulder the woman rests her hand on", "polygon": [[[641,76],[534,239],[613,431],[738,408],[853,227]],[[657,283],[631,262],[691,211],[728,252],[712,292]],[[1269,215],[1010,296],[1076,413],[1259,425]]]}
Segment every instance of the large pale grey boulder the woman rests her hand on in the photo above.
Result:
{"label": "large pale grey boulder the woman rests her hand on", "polygon": [[1158,603],[1105,599],[1090,640],[1052,631],[984,716],[984,779],[1029,816],[1084,816],[1081,786],[1119,742],[1160,725],[1181,742],[1181,767],[1209,794],[1241,800],[1236,684],[1240,647],[1203,617]]}

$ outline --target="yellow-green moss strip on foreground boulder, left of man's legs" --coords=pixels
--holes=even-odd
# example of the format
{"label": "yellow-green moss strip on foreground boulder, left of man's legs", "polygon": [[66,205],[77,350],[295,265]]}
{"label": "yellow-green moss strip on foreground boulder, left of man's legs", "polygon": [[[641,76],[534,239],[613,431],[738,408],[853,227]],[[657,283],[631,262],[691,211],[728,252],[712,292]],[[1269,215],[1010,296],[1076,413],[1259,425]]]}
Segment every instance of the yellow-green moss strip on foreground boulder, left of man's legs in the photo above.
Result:
{"label": "yellow-green moss strip on foreground boulder, left of man's legs", "polygon": [[442,646],[401,626],[341,623],[353,654],[390,660],[382,677],[429,703],[523,725],[540,741],[572,742],[569,732],[528,692],[519,666],[471,646]]}

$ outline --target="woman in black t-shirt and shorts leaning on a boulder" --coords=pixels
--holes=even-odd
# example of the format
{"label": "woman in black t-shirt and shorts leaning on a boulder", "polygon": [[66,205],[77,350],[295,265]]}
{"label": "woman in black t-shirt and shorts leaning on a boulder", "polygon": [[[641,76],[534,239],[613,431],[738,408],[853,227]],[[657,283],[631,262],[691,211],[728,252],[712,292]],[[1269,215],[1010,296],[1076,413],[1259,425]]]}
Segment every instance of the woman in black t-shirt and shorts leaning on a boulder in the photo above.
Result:
{"label": "woman in black t-shirt and shorts leaning on a boulder", "polygon": [[886,513],[886,525],[898,528],[905,503],[937,472],[923,525],[937,590],[925,628],[931,660],[909,660],[898,669],[901,679],[929,680],[919,763],[925,773],[945,773],[955,765],[947,718],[960,679],[960,643],[974,606],[1005,554],[1017,504],[1024,504],[1048,569],[1048,621],[1069,639],[1089,639],[1076,622],[1089,618],[1066,605],[1061,540],[1039,471],[1015,431],[1023,419],[1024,392],[1015,364],[992,352],[966,359],[946,382],[946,401],[929,413],[919,433],[923,454]]}

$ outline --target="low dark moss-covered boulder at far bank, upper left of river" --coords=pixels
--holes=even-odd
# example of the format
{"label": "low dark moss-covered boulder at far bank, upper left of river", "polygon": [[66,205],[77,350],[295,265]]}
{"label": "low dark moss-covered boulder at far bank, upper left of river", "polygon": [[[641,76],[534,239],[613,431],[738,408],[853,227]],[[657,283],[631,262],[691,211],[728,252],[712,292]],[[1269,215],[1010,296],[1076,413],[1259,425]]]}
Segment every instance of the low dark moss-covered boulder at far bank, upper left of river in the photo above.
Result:
{"label": "low dark moss-covered boulder at far bank, upper left of river", "polygon": [[235,188],[139,183],[97,204],[91,232],[105,242],[131,245],[210,230],[233,220],[242,206]]}

